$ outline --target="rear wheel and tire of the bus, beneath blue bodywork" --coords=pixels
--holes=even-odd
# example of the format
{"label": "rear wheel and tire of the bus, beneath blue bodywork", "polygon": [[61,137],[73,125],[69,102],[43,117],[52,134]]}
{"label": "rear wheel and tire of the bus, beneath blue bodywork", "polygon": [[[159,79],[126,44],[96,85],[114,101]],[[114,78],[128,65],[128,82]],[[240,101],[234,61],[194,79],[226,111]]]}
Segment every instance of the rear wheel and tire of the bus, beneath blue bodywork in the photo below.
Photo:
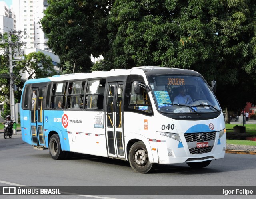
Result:
{"label": "rear wheel and tire of the bus, beneath blue bodywork", "polygon": [[66,156],[66,151],[61,150],[60,138],[58,134],[54,134],[50,138],[49,150],[54,160],[63,160]]}

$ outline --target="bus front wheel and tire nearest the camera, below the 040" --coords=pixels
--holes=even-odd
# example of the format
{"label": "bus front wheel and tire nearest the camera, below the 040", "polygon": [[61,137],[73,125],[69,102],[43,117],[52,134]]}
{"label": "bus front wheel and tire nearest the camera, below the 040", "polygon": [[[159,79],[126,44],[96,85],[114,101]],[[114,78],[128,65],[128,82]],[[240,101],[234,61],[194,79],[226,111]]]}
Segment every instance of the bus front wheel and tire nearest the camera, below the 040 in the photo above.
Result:
{"label": "bus front wheel and tire nearest the camera, below the 040", "polygon": [[149,173],[154,170],[154,164],[148,160],[148,151],[143,142],[135,142],[129,151],[130,166],[137,173]]}

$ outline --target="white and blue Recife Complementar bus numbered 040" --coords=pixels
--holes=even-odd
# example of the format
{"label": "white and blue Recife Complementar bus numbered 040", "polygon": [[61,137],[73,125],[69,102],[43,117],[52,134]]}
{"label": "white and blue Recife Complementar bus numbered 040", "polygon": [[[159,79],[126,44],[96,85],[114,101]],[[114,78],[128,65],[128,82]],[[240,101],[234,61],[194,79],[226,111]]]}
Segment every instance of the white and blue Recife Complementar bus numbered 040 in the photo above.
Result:
{"label": "white and blue Recife Complementar bus numbered 040", "polygon": [[74,152],[118,158],[138,173],[155,164],[202,168],[224,158],[224,116],[196,71],[134,67],[26,81],[22,139],[55,160]]}

